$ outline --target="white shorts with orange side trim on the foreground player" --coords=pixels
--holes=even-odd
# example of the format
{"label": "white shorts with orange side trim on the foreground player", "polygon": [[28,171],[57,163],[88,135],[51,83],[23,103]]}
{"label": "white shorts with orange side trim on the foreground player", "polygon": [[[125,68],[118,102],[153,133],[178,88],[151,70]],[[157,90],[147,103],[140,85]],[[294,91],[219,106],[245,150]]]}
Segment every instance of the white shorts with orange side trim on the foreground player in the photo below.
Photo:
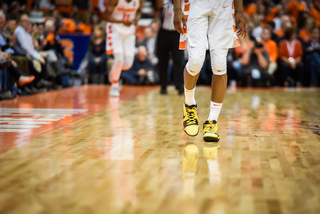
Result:
{"label": "white shorts with orange side trim on the foreground player", "polygon": [[189,1],[185,5],[190,5],[184,6],[183,9],[187,18],[185,48],[212,50],[240,46],[235,29],[232,0]]}

